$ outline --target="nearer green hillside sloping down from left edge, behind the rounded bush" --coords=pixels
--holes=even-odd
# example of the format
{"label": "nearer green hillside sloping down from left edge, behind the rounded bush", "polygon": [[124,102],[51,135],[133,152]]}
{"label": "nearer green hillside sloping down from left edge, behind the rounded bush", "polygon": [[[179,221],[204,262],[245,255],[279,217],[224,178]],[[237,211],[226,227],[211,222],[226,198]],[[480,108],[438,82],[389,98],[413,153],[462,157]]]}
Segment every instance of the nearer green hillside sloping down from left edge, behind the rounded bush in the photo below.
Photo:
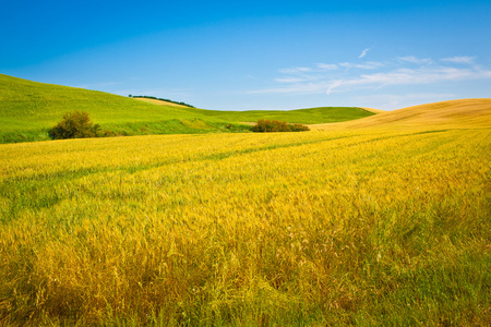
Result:
{"label": "nearer green hillside sloping down from left edge, behind the rounded bush", "polygon": [[156,106],[103,92],[31,82],[0,74],[0,143],[48,140],[47,130],[68,111],[86,111],[121,135],[196,133],[224,129],[197,111]]}

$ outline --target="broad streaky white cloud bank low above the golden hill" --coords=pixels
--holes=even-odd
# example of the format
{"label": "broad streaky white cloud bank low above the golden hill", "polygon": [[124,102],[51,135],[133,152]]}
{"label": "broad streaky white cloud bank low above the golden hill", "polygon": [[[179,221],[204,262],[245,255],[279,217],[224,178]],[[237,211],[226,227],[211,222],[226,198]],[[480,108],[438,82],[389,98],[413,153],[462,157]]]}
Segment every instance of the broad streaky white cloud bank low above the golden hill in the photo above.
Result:
{"label": "broad streaky white cloud bank low above the golden hill", "polygon": [[384,63],[378,61],[318,63],[313,68],[280,70],[280,73],[290,76],[282,76],[274,81],[284,85],[253,93],[333,94],[357,89],[379,90],[398,85],[431,85],[491,78],[490,69],[478,64],[462,66],[462,63],[475,63],[475,58],[448,57],[433,60],[407,56]]}

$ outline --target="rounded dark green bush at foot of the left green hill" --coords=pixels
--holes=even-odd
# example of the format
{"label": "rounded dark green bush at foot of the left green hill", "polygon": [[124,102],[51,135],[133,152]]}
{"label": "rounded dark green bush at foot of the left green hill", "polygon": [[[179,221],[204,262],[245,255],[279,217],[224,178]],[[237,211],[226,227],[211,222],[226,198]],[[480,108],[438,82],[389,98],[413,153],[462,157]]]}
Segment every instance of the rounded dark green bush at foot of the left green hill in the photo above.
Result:
{"label": "rounded dark green bush at foot of the left green hill", "polygon": [[99,124],[93,124],[87,112],[67,112],[63,119],[49,130],[52,140],[96,137]]}

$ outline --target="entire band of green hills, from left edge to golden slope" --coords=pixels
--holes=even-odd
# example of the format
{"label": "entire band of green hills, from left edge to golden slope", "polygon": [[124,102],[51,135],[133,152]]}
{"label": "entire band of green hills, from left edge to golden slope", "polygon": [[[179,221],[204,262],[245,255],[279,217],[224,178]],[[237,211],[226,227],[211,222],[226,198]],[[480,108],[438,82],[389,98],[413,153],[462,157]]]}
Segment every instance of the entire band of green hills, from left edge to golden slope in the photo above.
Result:
{"label": "entire band of green hills, from left edge to golden slope", "polygon": [[327,123],[372,116],[361,108],[323,107],[290,111],[219,111],[147,102],[103,92],[26,81],[0,74],[0,143],[48,140],[47,131],[68,111],[86,111],[104,130],[121,135],[246,132],[241,122],[275,119]]}

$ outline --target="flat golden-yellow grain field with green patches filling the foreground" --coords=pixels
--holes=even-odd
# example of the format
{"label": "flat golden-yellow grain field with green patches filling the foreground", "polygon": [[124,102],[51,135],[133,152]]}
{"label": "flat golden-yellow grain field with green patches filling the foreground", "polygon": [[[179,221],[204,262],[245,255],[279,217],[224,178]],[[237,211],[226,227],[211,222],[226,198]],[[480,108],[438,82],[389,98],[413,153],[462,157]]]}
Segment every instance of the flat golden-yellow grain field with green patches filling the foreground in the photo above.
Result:
{"label": "flat golden-yellow grain field with green patches filling the foreground", "polygon": [[0,325],[489,326],[491,130],[0,145]]}

